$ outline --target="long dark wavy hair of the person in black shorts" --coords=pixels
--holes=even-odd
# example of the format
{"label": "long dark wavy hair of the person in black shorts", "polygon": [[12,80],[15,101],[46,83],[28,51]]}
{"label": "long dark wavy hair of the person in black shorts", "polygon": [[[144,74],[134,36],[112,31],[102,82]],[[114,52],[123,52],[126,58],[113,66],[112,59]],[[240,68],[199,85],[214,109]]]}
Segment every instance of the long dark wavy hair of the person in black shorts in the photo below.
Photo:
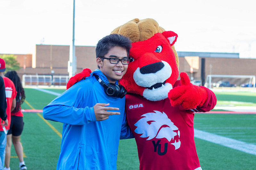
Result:
{"label": "long dark wavy hair of the person in black shorts", "polygon": [[25,100],[25,91],[21,85],[21,79],[18,76],[16,71],[8,71],[5,75],[5,77],[8,77],[12,80],[16,91],[17,91],[17,95],[16,95],[16,107],[15,109],[12,111],[12,113],[16,113],[21,109],[21,104],[24,102]]}

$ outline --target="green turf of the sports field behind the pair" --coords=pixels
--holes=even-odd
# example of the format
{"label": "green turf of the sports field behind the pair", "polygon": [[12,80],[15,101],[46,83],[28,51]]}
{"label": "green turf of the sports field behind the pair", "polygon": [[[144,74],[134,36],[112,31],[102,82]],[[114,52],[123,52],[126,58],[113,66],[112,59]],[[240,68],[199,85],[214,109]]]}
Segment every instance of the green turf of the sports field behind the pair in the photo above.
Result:
{"label": "green turf of the sports field behind the pair", "polygon": [[[47,90],[57,93],[65,91],[64,89]],[[26,102],[22,105],[23,109],[43,109],[56,97],[31,88],[25,88],[25,92]],[[216,92],[215,94],[218,105],[256,105],[256,93]],[[24,113],[24,122],[21,143],[28,169],[56,169],[61,146],[62,123],[46,121],[41,113]],[[196,114],[194,128],[256,145],[255,114]],[[256,155],[200,138],[195,138],[195,143],[202,169],[255,169]],[[13,146],[11,156],[10,167],[12,170],[18,170],[19,159]],[[118,170],[138,169],[139,161],[134,139],[120,140],[117,167]]]}

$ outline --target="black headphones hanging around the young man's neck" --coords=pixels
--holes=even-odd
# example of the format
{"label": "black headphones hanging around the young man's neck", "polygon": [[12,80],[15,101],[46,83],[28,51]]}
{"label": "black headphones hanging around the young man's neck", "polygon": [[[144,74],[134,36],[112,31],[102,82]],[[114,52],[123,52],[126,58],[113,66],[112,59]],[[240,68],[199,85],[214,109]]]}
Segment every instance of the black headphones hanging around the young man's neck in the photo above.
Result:
{"label": "black headphones hanging around the young man's neck", "polygon": [[106,84],[100,77],[94,74],[95,78],[100,82],[100,85],[104,87],[104,92],[106,95],[111,97],[123,98],[126,94],[126,89],[122,85],[116,85],[114,83]]}

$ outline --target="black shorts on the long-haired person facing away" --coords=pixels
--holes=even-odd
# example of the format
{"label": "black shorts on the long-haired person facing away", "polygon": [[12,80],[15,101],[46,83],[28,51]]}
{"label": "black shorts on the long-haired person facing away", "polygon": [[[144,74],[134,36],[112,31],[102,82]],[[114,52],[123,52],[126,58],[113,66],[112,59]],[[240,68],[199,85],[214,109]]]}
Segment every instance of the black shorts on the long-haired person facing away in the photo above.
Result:
{"label": "black shorts on the long-haired person facing away", "polygon": [[7,135],[20,136],[23,130],[24,122],[21,116],[11,116],[11,125]]}

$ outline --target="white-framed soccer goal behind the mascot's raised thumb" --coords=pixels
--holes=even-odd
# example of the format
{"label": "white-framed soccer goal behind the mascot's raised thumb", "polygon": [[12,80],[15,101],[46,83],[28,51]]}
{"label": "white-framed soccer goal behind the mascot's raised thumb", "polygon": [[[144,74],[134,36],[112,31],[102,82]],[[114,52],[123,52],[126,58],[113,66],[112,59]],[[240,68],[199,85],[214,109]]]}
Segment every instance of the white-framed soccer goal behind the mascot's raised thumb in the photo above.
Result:
{"label": "white-framed soccer goal behind the mascot's raised thumb", "polygon": [[254,75],[207,75],[204,86],[211,89],[218,81],[228,80],[230,83],[236,84],[237,86],[246,83],[249,85],[248,87],[252,87],[253,90],[255,90],[255,77]]}

